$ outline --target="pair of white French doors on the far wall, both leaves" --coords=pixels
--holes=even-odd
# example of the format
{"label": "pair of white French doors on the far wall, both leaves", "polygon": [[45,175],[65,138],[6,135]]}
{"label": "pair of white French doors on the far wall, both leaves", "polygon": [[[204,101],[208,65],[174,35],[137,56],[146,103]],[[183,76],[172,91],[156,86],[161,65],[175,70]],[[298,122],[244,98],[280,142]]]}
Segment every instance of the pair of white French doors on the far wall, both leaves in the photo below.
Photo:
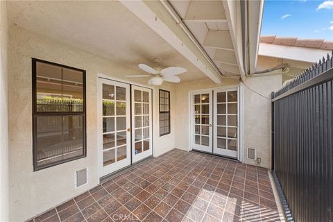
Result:
{"label": "pair of white French doors on the far wall, both leaves", "polygon": [[237,158],[239,110],[239,87],[193,92],[191,148]]}

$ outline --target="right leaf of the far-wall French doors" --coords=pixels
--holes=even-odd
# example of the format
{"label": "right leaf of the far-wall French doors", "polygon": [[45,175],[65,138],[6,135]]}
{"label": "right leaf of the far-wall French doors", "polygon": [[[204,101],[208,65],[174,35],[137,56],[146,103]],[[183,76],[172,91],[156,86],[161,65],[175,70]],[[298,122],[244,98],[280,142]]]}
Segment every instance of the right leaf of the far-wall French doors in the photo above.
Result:
{"label": "right leaf of the far-wall French doors", "polygon": [[214,90],[214,153],[237,157],[239,144],[239,87]]}

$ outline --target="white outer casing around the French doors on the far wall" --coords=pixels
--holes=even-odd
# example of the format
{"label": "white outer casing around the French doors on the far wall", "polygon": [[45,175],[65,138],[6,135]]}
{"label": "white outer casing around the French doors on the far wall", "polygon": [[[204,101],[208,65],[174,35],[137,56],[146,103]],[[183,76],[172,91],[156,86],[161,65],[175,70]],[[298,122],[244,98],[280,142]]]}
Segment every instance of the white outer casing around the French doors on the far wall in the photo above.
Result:
{"label": "white outer casing around the French doors on the far wall", "polygon": [[[244,161],[244,85],[242,83],[238,85],[227,85],[227,86],[222,86],[222,87],[212,87],[212,88],[207,88],[207,89],[198,89],[198,90],[191,90],[189,91],[189,151],[192,150],[192,143],[194,142],[193,135],[194,132],[192,127],[194,125],[194,101],[193,100],[193,94],[196,92],[200,92],[203,90],[220,90],[220,89],[230,89],[230,88],[235,88],[239,87],[239,152],[237,155],[237,160],[240,162]],[[213,135],[214,137],[214,135]]]}

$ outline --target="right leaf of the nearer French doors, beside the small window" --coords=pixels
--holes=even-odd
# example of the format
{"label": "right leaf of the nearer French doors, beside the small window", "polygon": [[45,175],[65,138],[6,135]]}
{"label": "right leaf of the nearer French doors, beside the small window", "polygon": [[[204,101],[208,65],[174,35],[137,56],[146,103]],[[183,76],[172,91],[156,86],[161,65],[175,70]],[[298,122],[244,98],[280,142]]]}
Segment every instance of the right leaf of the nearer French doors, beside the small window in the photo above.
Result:
{"label": "right leaf of the nearer French doors, beside the small window", "polygon": [[133,163],[153,154],[151,89],[132,86]]}

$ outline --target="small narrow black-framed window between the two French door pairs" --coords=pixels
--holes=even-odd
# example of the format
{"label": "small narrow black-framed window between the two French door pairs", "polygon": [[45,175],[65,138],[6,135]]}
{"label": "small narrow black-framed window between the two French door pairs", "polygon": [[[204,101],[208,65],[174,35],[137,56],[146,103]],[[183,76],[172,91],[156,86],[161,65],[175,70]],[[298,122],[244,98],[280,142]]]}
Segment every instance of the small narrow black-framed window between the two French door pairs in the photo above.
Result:
{"label": "small narrow black-framed window between the two French door pairs", "polygon": [[170,92],[160,89],[160,136],[170,131]]}

